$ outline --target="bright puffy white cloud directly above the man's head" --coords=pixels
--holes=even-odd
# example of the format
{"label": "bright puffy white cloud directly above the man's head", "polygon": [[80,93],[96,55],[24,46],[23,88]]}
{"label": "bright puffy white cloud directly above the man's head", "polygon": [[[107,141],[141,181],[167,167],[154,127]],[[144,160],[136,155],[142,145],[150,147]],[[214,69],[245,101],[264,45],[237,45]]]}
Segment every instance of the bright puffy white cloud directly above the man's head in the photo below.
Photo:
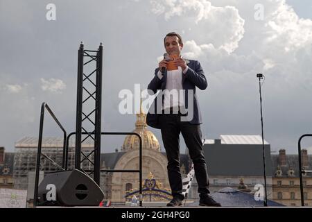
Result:
{"label": "bright puffy white cloud directly above the man's head", "polygon": [[170,24],[184,33],[184,39],[211,43],[227,53],[238,48],[245,33],[245,21],[234,6],[215,7],[206,0],[152,0],[150,3],[155,15],[164,15],[162,24]]}

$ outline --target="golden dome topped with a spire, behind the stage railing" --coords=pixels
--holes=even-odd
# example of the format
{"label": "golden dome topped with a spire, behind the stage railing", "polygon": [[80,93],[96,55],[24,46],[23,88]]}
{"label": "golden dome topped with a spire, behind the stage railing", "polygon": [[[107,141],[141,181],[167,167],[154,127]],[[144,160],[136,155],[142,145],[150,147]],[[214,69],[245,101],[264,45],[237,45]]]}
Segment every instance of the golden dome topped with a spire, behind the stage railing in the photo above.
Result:
{"label": "golden dome topped with a spire, behind the stage railing", "polygon": [[[137,121],[135,122],[135,130],[133,133],[138,133],[142,138],[142,148],[149,148],[154,151],[160,151],[160,145],[155,135],[147,130],[146,114],[143,112],[142,107],[140,113],[137,114]],[[139,137],[137,135],[128,135],[125,137],[121,151],[132,151],[139,149]]]}

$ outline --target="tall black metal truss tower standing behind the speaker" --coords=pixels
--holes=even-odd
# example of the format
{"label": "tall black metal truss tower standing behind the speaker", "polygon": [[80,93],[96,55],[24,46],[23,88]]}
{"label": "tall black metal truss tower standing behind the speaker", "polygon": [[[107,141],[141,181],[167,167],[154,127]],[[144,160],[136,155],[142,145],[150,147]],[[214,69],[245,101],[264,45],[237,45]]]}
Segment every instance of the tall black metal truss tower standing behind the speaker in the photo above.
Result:
{"label": "tall black metal truss tower standing behind the speaker", "polygon": [[[93,174],[93,179],[98,185],[100,185],[101,158],[102,55],[102,43],[97,51],[92,51],[85,50],[81,42],[78,50],[75,168],[82,169],[81,163],[85,160],[89,161],[93,165],[89,176]],[[87,62],[84,62],[85,57],[89,59]],[[94,63],[95,67],[91,68],[91,72],[85,74],[85,67],[90,68]],[[88,103],[93,103],[93,108],[86,112]],[[87,123],[91,123],[89,129],[86,127]],[[83,137],[83,133],[87,135]],[[86,154],[81,150],[81,144],[88,138],[94,140],[94,151]],[[90,155],[94,156],[94,160],[89,158]]]}

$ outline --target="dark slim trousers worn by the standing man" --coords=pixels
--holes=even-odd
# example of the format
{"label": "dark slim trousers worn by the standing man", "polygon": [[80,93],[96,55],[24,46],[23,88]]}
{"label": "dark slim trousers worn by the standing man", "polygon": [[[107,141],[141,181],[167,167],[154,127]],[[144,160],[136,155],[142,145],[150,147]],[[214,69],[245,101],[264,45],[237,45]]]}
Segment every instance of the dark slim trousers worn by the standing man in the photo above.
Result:
{"label": "dark slim trousers worn by the standing man", "polygon": [[198,193],[209,194],[209,180],[205,156],[202,151],[202,132],[200,124],[181,121],[182,114],[159,114],[162,140],[168,159],[168,178],[173,196],[182,194],[182,177],[180,173],[180,133],[189,148],[193,161]]}

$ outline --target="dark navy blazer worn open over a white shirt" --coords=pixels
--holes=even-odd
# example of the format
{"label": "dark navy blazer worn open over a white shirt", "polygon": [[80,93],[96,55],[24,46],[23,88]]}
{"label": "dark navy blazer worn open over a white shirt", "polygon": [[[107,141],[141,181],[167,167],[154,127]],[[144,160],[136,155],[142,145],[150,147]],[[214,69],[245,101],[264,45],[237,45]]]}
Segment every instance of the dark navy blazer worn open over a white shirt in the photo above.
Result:
{"label": "dark navy blazer worn open over a white shirt", "polygon": [[[187,99],[187,90],[193,89],[193,119],[189,121],[189,123],[192,124],[201,124],[202,123],[202,117],[200,113],[200,107],[196,96],[196,87],[199,89],[206,89],[207,88],[207,79],[205,77],[204,71],[202,70],[202,67],[200,66],[200,62],[196,60],[188,60],[189,63],[187,64],[189,69],[187,70],[186,74],[182,74],[182,87],[186,90],[186,96],[184,96],[184,104],[186,108],[188,108],[188,99]],[[155,76],[153,80],[150,81],[150,84],[148,84],[148,89],[153,91],[153,94],[157,93],[158,89],[166,89],[166,79],[167,79],[167,72],[164,72],[164,76],[162,79],[159,79],[157,76],[159,68],[155,69]],[[162,94],[158,94],[158,96],[162,96]],[[146,123],[148,126],[153,128],[160,128],[159,123],[159,114],[157,114],[157,97],[154,100],[154,105],[150,107],[155,108],[155,112],[150,113],[150,110],[148,111],[148,114],[146,116]],[[162,100],[164,99],[164,96]]]}

